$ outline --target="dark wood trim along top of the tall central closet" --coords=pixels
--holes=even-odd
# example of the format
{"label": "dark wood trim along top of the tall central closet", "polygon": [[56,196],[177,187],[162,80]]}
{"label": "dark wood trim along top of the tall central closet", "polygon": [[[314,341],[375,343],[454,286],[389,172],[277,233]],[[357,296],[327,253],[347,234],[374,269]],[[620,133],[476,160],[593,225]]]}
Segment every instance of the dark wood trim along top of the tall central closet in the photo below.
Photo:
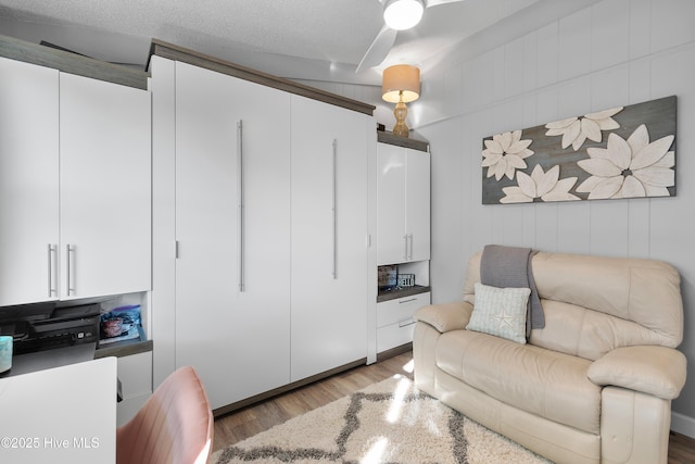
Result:
{"label": "dark wood trim along top of the tall central closet", "polygon": [[[229,76],[238,77],[240,79],[250,80],[252,83],[261,84],[267,87],[273,87],[279,90],[283,90],[290,93],[299,95],[302,97],[311,98],[313,100],[330,103],[336,106],[345,108],[359,113],[372,115],[376,106],[367,104],[357,100],[353,100],[346,97],[341,97],[325,90],[316,89],[314,87],[305,86],[303,84],[295,83],[293,80],[285,79],[282,77],[266,74],[261,71],[252,70],[250,67],[241,66],[229,61],[225,61],[215,57],[211,57],[204,53],[199,53],[194,50],[190,50],[184,47],[179,47],[173,43],[167,43],[162,40],[153,39],[150,46],[150,59],[152,55],[166,58],[174,61],[180,61],[182,63],[192,64],[206,70],[215,71]],[[148,59],[148,68],[150,62]]]}

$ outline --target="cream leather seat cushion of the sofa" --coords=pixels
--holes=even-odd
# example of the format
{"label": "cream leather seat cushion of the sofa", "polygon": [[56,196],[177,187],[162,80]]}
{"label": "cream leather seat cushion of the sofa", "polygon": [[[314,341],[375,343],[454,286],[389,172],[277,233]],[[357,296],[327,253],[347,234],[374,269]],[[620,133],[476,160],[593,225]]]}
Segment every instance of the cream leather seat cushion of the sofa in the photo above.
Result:
{"label": "cream leather seat cushion of the sofa", "polygon": [[445,373],[520,410],[599,434],[601,387],[591,361],[470,330],[442,334],[435,363]]}

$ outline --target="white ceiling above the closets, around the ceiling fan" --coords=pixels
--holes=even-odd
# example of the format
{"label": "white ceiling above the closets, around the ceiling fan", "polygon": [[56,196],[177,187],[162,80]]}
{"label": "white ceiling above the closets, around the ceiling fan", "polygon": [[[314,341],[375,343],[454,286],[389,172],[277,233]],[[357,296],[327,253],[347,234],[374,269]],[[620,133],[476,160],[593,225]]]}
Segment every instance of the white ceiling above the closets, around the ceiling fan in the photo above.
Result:
{"label": "white ceiling above the closets, around the ceiling fan", "polygon": [[593,1],[465,0],[430,8],[364,76],[354,70],[382,26],[379,0],[0,0],[0,34],[140,67],[157,38],[286,77],[359,81],[378,80],[390,64],[420,64],[516,14],[547,22],[554,5]]}

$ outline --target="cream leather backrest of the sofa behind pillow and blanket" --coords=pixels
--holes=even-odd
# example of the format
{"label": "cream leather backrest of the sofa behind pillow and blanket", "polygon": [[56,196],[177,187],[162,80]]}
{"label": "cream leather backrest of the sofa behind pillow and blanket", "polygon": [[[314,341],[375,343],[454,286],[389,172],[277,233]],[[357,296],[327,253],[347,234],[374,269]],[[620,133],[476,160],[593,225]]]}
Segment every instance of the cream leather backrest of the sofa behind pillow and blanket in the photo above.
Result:
{"label": "cream leather backrest of the sofa behind pillow and blanket", "polygon": [[[464,299],[471,304],[481,254],[468,262]],[[675,348],[683,339],[680,275],[668,263],[539,252],[532,267],[545,314],[532,344],[597,360],[615,348]]]}

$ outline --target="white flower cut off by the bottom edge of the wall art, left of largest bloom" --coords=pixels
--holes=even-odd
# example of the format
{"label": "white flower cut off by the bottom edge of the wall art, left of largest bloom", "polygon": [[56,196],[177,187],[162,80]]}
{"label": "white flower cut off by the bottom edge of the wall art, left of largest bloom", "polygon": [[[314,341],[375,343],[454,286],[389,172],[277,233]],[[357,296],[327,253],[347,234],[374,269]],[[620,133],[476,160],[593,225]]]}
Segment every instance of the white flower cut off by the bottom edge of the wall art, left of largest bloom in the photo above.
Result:
{"label": "white flower cut off by the bottom edge of the wall art, left of largest bloom", "polygon": [[543,201],[572,201],[581,200],[569,192],[577,184],[577,177],[560,179],[560,166],[555,165],[543,172],[543,167],[536,164],[529,176],[526,173],[517,173],[518,186],[504,187],[505,197],[500,203],[531,203],[540,198]]}

